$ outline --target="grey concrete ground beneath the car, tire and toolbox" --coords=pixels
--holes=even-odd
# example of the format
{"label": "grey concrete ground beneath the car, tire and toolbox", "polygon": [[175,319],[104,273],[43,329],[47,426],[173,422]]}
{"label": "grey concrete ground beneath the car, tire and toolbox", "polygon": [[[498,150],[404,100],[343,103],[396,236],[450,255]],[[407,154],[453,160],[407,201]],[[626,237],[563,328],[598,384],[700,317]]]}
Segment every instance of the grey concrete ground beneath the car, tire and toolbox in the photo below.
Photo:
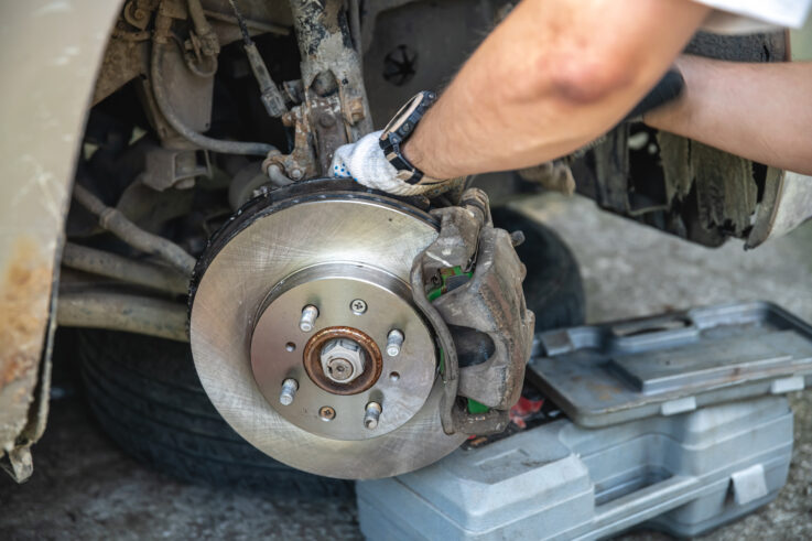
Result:
{"label": "grey concrete ground beneath the car, tire and toolbox", "polygon": [[[572,247],[591,322],[755,299],[812,321],[812,224],[745,252],[734,241],[716,250],[693,246],[577,197],[520,206]],[[63,391],[34,447],[33,478],[23,486],[0,478],[0,539],[360,538],[351,500],[271,499],[154,473],[100,432],[69,383]],[[775,502],[708,539],[812,539],[812,392],[791,401],[795,446],[787,487]],[[668,538],[637,532],[622,539]]]}

